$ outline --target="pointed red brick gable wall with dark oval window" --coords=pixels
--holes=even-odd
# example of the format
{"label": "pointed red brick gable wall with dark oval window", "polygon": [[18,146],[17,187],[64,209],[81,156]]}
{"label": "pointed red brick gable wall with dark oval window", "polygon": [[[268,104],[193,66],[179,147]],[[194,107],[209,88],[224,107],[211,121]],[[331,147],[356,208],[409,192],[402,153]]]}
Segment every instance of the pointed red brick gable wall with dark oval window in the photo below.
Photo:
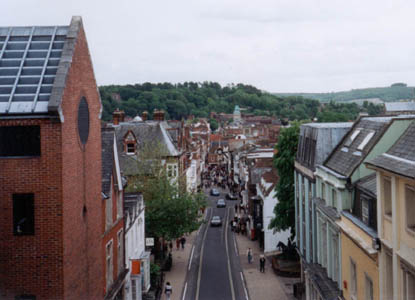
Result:
{"label": "pointed red brick gable wall with dark oval window", "polygon": [[[89,106],[89,137],[78,135],[78,105]],[[62,100],[62,188],[65,299],[102,299],[101,104],[88,45],[80,29]],[[84,214],[84,207],[86,213]]]}

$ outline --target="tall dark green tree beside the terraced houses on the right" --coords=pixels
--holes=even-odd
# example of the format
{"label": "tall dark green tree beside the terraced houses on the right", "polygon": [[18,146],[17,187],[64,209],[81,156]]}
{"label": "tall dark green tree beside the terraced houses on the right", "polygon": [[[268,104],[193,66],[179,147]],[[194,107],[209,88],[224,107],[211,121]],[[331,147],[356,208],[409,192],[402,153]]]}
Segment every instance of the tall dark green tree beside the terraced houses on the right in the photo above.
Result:
{"label": "tall dark green tree beside the terraced houses on the right", "polygon": [[276,146],[274,166],[277,169],[279,180],[275,187],[278,203],[274,207],[274,217],[269,229],[282,231],[291,229],[295,235],[295,206],[294,206],[294,159],[297,153],[300,125],[294,122],[290,127],[283,128]]}

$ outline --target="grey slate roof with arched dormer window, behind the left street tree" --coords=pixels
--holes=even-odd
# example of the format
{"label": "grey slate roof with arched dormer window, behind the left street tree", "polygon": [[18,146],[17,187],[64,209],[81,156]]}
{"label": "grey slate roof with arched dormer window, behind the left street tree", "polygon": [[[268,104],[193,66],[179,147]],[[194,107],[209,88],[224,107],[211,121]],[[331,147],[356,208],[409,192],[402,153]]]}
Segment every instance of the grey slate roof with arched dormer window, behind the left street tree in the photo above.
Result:
{"label": "grey slate roof with arched dormer window, behind the left street tree", "polygon": [[112,125],[115,129],[117,149],[120,160],[120,168],[123,175],[135,175],[138,170],[137,158],[135,155],[127,155],[124,152],[124,138],[131,131],[137,139],[137,150],[146,147],[155,147],[165,156],[178,156],[180,153],[174,146],[170,135],[159,122],[121,122],[119,125]]}

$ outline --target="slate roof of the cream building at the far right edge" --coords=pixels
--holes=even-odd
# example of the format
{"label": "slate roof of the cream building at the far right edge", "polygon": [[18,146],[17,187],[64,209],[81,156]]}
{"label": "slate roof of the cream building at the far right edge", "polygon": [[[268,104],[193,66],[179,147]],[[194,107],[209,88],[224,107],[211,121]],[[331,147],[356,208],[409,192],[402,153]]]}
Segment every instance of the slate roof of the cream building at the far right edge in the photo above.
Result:
{"label": "slate roof of the cream building at the far right edge", "polygon": [[375,157],[367,164],[415,178],[415,121],[386,153]]}

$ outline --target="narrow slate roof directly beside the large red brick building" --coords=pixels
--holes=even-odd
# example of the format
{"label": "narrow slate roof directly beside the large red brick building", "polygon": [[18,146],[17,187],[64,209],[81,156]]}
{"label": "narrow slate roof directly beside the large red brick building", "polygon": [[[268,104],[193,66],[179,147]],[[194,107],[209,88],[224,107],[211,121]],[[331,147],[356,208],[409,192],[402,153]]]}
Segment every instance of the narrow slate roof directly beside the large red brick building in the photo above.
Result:
{"label": "narrow slate roof directly beside the large red brick building", "polygon": [[102,192],[109,197],[111,190],[112,168],[114,166],[114,129],[103,128],[101,131],[102,153]]}

